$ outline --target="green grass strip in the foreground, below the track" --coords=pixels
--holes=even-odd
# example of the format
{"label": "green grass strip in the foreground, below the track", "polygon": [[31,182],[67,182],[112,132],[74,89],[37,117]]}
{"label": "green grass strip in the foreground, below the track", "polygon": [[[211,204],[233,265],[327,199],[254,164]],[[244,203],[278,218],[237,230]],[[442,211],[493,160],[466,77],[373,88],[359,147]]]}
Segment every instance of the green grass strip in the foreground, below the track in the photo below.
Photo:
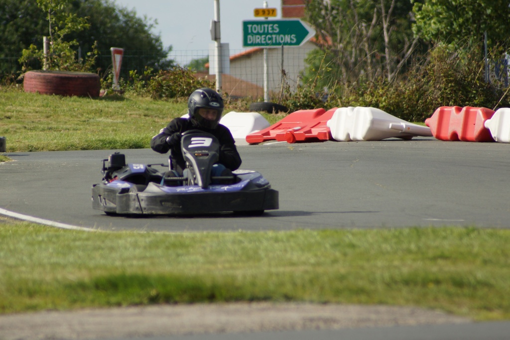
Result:
{"label": "green grass strip in the foreground, below the track", "polygon": [[0,312],[308,301],[510,317],[510,230],[80,232],[0,224]]}

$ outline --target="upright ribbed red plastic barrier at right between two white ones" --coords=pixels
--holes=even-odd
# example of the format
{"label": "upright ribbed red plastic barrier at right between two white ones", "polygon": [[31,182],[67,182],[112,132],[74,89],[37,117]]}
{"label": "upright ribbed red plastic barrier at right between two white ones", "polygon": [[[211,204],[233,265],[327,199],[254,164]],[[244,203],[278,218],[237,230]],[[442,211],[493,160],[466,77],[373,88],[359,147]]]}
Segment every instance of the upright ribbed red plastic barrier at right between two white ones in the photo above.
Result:
{"label": "upright ribbed red plastic barrier at right between two white ones", "polygon": [[487,108],[443,106],[425,119],[432,135],[443,141],[494,142],[491,132],[484,126],[494,115]]}

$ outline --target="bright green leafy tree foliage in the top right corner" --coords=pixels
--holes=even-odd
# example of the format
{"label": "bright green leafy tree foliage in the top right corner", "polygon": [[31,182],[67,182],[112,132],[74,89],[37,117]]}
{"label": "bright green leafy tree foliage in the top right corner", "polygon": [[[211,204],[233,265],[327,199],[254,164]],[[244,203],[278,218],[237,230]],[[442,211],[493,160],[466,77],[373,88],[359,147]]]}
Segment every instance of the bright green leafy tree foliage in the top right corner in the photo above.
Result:
{"label": "bright green leafy tree foliage in the top right corner", "polygon": [[431,42],[473,45],[487,32],[493,44],[508,45],[510,1],[421,0],[413,1],[413,31]]}

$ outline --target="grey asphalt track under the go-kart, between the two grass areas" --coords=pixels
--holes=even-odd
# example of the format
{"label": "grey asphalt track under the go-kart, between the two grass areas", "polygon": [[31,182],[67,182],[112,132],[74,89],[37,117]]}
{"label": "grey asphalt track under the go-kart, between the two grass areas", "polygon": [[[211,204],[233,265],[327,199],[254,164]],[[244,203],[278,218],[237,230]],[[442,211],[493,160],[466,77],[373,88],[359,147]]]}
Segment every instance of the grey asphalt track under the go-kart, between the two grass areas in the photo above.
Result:
{"label": "grey asphalt track under the go-kart, between the two grass areas", "polygon": [[248,218],[129,218],[93,210],[101,160],[120,151],[129,163],[167,163],[150,149],[8,153],[14,162],[0,164],[0,208],[103,230],[506,228],[509,147],[433,138],[239,145],[241,168],[260,171],[279,191],[279,210]]}

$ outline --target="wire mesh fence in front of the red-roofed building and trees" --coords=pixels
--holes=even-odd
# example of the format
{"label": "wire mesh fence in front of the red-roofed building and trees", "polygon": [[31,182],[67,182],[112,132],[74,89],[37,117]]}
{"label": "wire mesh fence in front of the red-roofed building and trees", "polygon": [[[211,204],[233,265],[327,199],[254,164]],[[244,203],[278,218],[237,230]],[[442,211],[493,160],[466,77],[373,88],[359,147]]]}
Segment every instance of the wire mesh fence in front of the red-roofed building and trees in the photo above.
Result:
{"label": "wire mesh fence in front of the red-roofed building and trees", "polygon": [[[263,48],[227,51],[227,55],[221,56],[221,59],[226,61],[222,64],[221,71],[222,91],[234,97],[260,98],[264,95],[265,84],[272,95],[277,95],[284,88],[295,90],[302,72],[307,67],[305,58],[313,48],[316,48],[313,44],[268,48],[266,58]],[[215,82],[216,75],[211,65],[214,64],[214,59],[209,58],[212,52],[212,50],[171,51],[168,56],[169,65],[190,68],[196,72],[197,77]],[[0,58],[2,73],[19,71],[18,58],[15,56]],[[125,49],[120,77],[127,79],[129,71],[137,70],[140,73],[145,67],[165,69],[168,65],[159,65],[160,59],[151,51]],[[106,77],[112,71],[110,50],[99,51],[98,64],[104,65],[99,73],[101,77]]]}

